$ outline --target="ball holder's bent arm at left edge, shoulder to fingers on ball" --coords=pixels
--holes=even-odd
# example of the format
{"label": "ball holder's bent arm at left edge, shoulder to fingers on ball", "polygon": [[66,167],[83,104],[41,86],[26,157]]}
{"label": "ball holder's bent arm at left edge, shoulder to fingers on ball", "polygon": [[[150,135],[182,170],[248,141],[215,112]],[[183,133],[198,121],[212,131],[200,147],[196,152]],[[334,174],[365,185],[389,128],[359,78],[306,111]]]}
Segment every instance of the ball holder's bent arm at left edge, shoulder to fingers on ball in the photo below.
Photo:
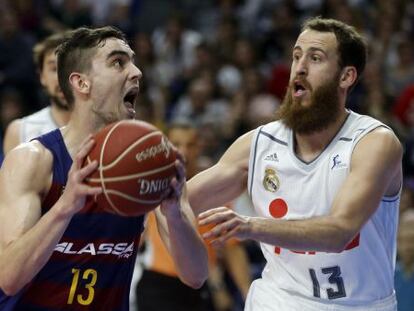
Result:
{"label": "ball holder's bent arm at left edge, shoulder to fingers on ball", "polygon": [[[92,142],[93,143],[93,142]],[[41,195],[51,181],[52,155],[39,142],[10,152],[0,170],[0,288],[16,294],[40,271],[69,224],[83,206],[86,194],[100,189],[81,183],[93,169],[80,169],[93,144],[78,154],[64,194],[41,216]]]}

